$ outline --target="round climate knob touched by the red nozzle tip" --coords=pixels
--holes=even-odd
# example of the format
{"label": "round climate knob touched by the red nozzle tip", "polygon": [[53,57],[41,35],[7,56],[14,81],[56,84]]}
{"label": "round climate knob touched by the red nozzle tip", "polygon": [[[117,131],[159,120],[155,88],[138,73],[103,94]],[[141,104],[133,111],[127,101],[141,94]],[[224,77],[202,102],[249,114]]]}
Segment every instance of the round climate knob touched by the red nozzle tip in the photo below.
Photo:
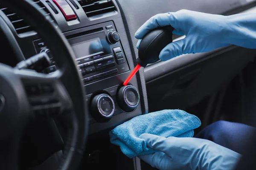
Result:
{"label": "round climate knob touched by the red nozzle tip", "polygon": [[117,101],[123,111],[132,112],[139,105],[139,91],[132,85],[123,86],[117,92]]}

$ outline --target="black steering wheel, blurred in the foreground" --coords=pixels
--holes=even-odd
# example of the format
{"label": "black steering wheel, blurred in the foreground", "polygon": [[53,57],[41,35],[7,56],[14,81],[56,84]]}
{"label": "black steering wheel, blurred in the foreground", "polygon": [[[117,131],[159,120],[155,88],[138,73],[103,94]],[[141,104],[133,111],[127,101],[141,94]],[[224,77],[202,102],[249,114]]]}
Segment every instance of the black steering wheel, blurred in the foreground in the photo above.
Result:
{"label": "black steering wheel, blurred in the foreground", "polygon": [[3,2],[15,9],[44,39],[58,71],[42,74],[0,63],[0,169],[20,169],[20,138],[31,116],[35,119],[58,116],[67,129],[58,170],[74,170],[84,153],[88,111],[73,51],[61,31],[31,0]]}

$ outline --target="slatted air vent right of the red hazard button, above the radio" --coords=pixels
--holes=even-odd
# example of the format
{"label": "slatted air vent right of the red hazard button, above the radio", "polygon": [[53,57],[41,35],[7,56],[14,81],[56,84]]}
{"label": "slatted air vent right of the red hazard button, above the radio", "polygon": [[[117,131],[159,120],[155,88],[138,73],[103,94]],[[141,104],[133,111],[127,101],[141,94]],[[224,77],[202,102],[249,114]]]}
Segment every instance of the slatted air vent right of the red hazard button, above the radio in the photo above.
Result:
{"label": "slatted air vent right of the red hazard button, above the radio", "polygon": [[111,0],[78,0],[88,18],[116,13],[116,8]]}

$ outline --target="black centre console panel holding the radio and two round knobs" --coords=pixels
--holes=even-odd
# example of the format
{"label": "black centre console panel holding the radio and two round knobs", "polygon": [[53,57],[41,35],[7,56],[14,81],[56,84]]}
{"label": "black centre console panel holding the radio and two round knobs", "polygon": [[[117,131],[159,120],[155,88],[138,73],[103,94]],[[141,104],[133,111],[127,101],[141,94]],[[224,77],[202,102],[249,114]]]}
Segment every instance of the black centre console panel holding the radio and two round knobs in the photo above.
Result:
{"label": "black centre console panel holding the radio and two round knobs", "polygon": [[115,23],[101,23],[64,35],[73,48],[83,76],[90,110],[90,132],[114,127],[141,114],[136,79],[122,87],[134,63],[125,53]]}

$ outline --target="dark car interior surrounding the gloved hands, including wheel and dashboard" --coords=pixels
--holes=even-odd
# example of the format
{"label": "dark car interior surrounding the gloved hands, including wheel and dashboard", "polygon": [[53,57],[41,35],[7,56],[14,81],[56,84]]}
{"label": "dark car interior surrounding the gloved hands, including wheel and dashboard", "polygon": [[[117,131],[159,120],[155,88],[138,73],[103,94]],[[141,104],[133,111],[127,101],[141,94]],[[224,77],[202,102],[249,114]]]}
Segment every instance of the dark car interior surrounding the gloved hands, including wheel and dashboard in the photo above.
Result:
{"label": "dark car interior surrounding the gloved hands, including wheel and dashboard", "polygon": [[256,0],[0,0],[0,169],[154,170],[109,131],[164,109],[198,116],[195,134],[219,120],[253,126],[255,49],[157,61],[122,85],[137,65],[137,29],[181,9],[250,13]]}

